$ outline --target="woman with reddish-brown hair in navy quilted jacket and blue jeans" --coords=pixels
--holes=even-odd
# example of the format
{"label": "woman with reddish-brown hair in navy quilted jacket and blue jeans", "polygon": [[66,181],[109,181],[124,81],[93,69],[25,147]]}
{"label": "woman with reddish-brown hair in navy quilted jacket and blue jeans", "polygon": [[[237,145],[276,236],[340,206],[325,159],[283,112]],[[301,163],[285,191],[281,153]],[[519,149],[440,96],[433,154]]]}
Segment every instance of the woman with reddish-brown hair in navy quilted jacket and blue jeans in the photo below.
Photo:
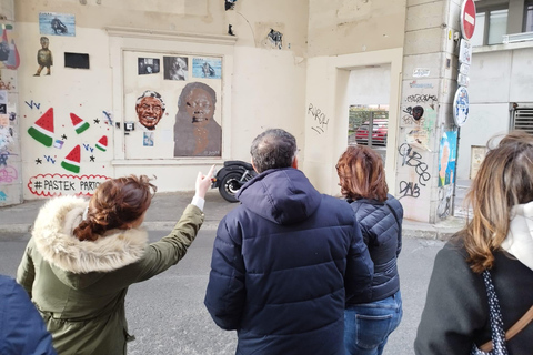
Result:
{"label": "woman with reddish-brown hair in navy quilted jacket and blue jeans", "polygon": [[370,148],[349,146],[336,172],[374,263],[372,295],[346,300],[344,346],[352,355],[381,355],[402,320],[396,258],[402,248],[403,209],[388,194],[383,161]]}

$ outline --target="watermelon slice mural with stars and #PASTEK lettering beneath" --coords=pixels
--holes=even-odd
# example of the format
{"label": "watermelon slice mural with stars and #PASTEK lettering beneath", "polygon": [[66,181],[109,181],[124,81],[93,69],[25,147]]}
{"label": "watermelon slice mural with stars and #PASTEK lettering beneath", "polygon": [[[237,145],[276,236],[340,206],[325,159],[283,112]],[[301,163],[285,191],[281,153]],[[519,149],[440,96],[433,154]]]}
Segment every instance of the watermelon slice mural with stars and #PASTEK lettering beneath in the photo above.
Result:
{"label": "watermelon slice mural with stars and #PASTEK lettering beneath", "polygon": [[[26,102],[31,102],[31,105],[28,104],[31,109],[36,105],[33,100]],[[26,184],[29,193],[47,197],[60,194],[91,195],[101,181],[109,179],[101,173],[91,173],[105,169],[105,165],[97,165],[99,161],[110,160],[105,152],[113,128],[112,122],[108,121],[111,114],[101,111],[102,116],[93,118],[89,123],[81,112],[86,111],[80,109],[80,112],[58,118],[54,108],[37,111],[40,116],[27,131],[28,136],[41,146],[32,150],[38,152],[33,158],[38,174]]]}

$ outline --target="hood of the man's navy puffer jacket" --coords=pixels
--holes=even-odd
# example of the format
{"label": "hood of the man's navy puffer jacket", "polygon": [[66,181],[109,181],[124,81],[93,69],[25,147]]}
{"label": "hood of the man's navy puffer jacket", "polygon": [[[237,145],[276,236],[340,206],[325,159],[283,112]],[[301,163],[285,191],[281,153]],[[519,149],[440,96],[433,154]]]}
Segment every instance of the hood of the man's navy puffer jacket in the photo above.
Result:
{"label": "hood of the man's navy puffer jacket", "polygon": [[253,213],[281,225],[305,221],[321,201],[303,172],[293,168],[262,172],[242,186],[237,197]]}

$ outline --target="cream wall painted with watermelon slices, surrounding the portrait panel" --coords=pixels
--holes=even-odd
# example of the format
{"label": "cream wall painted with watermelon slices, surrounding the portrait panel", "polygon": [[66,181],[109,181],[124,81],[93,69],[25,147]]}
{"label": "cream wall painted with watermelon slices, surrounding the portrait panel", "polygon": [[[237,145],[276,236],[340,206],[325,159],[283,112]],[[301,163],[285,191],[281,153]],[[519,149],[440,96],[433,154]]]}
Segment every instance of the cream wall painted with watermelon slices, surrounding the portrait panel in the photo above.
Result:
{"label": "cream wall painted with watermelon slices, surrounding the portrait panel", "polygon": [[[228,11],[223,1],[215,0],[83,2],[16,3],[17,26],[24,33],[18,73],[24,199],[91,194],[99,182],[130,173],[157,175],[155,184],[162,192],[193,190],[199,170],[205,171],[213,163],[220,166],[228,159],[248,161],[252,139],[266,128],[293,132],[303,148],[306,0],[238,1],[234,10]],[[39,29],[41,12],[72,14],[76,36],[48,34],[53,54],[51,75],[46,75],[44,69],[40,77],[33,77],[43,36]],[[234,37],[228,34],[230,24]],[[280,43],[266,37],[271,29],[282,34]],[[141,148],[133,148],[130,158],[139,159],[127,159],[130,148],[123,123],[135,120],[131,118],[131,98],[138,95],[127,84],[131,78],[124,78],[128,51],[145,52],[148,57],[185,53],[222,58],[221,89],[217,93],[220,111],[215,116],[223,132],[221,156],[174,159],[154,150],[148,158],[141,154]],[[64,52],[89,54],[90,69],[66,68]],[[140,89],[143,81],[133,82]],[[162,120],[172,120],[181,87],[173,92],[164,84],[170,99]],[[158,89],[153,83],[145,85]],[[54,130],[49,133],[53,141],[49,146],[28,131],[43,115],[51,118],[50,109]],[[89,129],[77,132],[71,114],[89,123]],[[97,144],[103,136],[108,140],[105,151]],[[77,155],[78,150],[79,172],[76,164],[62,164],[70,152]]]}

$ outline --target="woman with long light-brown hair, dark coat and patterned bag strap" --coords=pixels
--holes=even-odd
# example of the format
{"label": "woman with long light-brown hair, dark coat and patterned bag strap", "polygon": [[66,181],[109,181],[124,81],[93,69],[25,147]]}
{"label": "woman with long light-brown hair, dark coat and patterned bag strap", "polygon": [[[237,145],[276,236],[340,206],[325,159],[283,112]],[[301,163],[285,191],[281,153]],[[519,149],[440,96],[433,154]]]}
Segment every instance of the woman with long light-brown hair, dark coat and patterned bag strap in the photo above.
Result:
{"label": "woman with long light-brown hair, dark coat and patterned bag strap", "polygon": [[473,215],[436,255],[415,353],[531,354],[533,135],[490,150],[466,200]]}

